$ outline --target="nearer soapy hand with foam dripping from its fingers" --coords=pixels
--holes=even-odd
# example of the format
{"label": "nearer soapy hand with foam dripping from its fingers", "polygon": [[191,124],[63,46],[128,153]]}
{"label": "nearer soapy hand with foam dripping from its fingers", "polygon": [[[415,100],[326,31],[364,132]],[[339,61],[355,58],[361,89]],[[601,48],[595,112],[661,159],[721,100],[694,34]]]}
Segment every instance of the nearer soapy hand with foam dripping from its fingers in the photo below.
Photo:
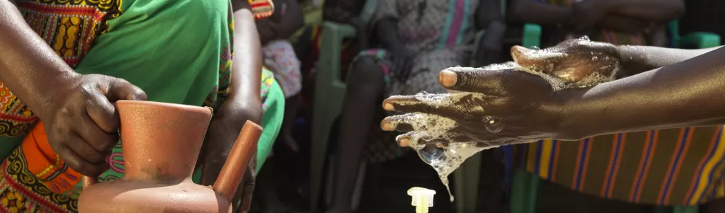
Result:
{"label": "nearer soapy hand with foam dripping from its fingers", "polygon": [[[386,117],[381,128],[444,131],[432,140],[415,141],[418,144],[476,141],[500,146],[544,138],[573,139],[558,128],[556,93],[537,75],[513,69],[452,67],[439,74],[439,83],[460,92],[392,96],[383,102],[384,109],[407,114]],[[398,144],[407,146],[418,139],[399,137]]]}

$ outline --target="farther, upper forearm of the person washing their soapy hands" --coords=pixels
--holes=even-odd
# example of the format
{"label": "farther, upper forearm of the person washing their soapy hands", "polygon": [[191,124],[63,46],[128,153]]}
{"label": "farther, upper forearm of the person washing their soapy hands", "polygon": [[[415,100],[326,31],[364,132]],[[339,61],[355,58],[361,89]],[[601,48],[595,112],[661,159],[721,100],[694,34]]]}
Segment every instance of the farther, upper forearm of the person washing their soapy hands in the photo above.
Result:
{"label": "farther, upper forearm of the person washing their soapy hands", "polygon": [[637,75],[647,70],[665,67],[701,54],[708,53],[720,47],[708,49],[671,49],[655,46],[618,46],[622,58],[622,70],[627,75]]}

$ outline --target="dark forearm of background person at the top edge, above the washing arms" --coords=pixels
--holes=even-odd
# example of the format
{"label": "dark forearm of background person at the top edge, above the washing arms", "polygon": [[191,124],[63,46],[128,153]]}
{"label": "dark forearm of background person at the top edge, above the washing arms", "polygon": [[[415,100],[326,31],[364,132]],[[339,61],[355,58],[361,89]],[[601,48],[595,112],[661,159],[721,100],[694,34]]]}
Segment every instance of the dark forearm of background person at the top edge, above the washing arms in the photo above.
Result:
{"label": "dark forearm of background person at the top edge, above the washing arms", "polygon": [[610,2],[610,12],[652,22],[667,22],[684,15],[682,0],[602,0]]}

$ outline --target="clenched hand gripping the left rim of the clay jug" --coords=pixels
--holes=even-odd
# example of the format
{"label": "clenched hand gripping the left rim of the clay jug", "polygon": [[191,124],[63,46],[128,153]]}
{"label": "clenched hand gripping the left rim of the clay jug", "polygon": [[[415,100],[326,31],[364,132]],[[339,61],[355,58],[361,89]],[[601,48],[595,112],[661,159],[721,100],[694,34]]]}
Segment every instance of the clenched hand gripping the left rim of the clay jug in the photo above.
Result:
{"label": "clenched hand gripping the left rim of the clay jug", "polygon": [[77,75],[51,91],[48,107],[36,111],[51,148],[80,174],[94,177],[107,170],[104,159],[118,143],[120,126],[113,103],[146,100],[146,93],[106,75]]}

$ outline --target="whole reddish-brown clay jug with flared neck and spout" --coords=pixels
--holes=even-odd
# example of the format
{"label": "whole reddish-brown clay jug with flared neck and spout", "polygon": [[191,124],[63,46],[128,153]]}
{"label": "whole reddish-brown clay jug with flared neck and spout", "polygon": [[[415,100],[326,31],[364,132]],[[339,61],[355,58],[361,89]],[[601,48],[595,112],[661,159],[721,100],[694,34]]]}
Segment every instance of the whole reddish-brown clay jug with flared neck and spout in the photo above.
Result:
{"label": "whole reddish-brown clay jug with flared neck and spout", "polygon": [[232,212],[262,128],[247,121],[212,187],[191,181],[212,109],[152,101],[117,101],[125,177],[83,177],[80,213]]}

